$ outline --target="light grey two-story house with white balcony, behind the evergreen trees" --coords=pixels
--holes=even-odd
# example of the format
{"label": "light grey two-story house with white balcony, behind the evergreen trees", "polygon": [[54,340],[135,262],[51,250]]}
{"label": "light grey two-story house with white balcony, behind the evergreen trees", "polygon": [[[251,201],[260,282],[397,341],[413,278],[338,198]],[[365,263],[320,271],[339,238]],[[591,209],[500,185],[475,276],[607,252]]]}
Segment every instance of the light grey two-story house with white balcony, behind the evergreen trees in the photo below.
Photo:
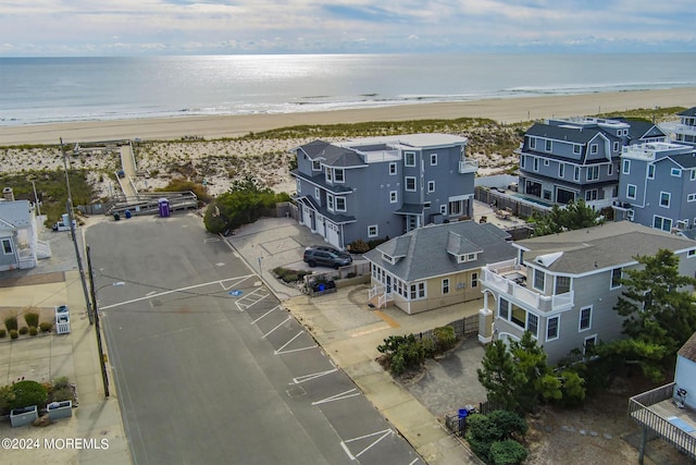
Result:
{"label": "light grey two-story house with white balcony, behind the evergreen trees", "polygon": [[680,273],[696,272],[696,242],[630,221],[532,237],[513,244],[518,256],[483,267],[478,339],[519,340],[530,331],[550,364],[572,350],[622,336],[613,306],[634,257],[672,250]]}

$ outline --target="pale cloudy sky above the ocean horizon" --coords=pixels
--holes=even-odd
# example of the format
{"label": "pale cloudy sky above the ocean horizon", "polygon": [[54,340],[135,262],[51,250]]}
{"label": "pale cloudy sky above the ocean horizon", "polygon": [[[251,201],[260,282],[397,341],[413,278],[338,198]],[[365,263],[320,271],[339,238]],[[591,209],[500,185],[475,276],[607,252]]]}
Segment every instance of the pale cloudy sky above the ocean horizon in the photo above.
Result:
{"label": "pale cloudy sky above the ocean horizon", "polygon": [[0,57],[696,51],[694,0],[0,0]]}

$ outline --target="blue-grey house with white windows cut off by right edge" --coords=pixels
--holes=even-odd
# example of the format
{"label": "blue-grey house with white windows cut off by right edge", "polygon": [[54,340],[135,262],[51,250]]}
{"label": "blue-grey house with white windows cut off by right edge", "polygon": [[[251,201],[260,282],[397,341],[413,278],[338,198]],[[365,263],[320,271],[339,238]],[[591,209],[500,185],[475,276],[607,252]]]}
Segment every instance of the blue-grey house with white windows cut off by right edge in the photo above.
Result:
{"label": "blue-grey house with white windows cut off by right edge", "polygon": [[696,221],[696,147],[647,143],[623,147],[614,219],[662,231]]}

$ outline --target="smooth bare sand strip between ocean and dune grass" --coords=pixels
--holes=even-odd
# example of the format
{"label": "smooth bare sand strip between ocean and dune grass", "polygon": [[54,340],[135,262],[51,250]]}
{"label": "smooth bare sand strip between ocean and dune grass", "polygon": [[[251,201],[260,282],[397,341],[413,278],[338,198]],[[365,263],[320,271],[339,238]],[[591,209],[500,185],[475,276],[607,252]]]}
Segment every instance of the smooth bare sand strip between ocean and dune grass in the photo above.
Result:
{"label": "smooth bare sand strip between ocean and dune grass", "polygon": [[0,147],[117,139],[174,140],[184,136],[234,138],[296,125],[351,124],[370,121],[408,121],[487,118],[520,123],[547,118],[584,117],[638,108],[696,105],[696,87],[630,90],[567,96],[499,98],[318,112],[244,115],[171,117],[110,121],[0,126]]}

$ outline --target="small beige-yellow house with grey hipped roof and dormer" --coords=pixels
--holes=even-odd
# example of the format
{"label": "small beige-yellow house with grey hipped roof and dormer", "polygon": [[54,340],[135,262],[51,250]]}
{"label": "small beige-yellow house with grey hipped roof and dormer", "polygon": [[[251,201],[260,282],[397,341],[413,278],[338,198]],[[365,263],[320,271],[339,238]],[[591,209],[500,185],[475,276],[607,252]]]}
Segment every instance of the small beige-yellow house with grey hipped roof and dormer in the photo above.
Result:
{"label": "small beige-yellow house with grey hipped roof and dormer", "polygon": [[412,315],[481,298],[481,268],[514,259],[510,234],[490,223],[431,224],[364,254],[370,299]]}

